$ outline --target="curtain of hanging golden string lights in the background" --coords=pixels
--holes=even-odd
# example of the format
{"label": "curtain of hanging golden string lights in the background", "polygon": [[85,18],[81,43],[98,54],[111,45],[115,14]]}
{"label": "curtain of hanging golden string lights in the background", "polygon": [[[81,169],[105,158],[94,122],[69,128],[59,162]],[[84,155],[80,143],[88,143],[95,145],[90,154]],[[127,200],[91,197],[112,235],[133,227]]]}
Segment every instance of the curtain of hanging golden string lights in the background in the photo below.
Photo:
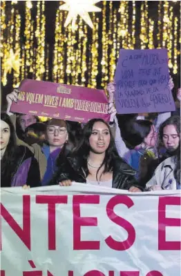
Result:
{"label": "curtain of hanging golden string lights in the background", "polygon": [[89,12],[91,29],[79,16],[73,19],[74,26],[65,27],[68,10],[62,10],[60,7],[65,1],[59,1],[52,52],[46,43],[46,1],[23,2],[22,15],[18,1],[1,1],[3,86],[12,81],[12,86],[17,87],[21,79],[29,77],[90,88],[96,88],[101,79],[99,83],[105,88],[113,81],[120,48],[134,49],[137,45],[140,49],[167,48],[169,68],[178,74],[180,18],[175,16],[174,8],[175,5],[180,8],[179,2],[159,1],[155,22],[149,12],[149,1],[142,1],[140,10],[137,1],[119,4],[118,1],[97,1],[101,12]]}

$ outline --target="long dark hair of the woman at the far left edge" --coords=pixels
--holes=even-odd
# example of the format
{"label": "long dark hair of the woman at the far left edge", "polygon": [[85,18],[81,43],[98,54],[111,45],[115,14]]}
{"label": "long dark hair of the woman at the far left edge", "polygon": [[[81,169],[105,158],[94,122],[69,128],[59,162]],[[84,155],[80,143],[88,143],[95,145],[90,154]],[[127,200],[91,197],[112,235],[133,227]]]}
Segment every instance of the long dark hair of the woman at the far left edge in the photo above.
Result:
{"label": "long dark hair of the woman at the far left edge", "polygon": [[10,127],[10,140],[6,151],[3,154],[3,158],[1,159],[1,181],[6,182],[8,185],[10,184],[11,175],[16,166],[15,152],[17,150],[17,143],[15,128],[10,120],[10,117],[6,113],[1,112],[1,120],[5,121]]}

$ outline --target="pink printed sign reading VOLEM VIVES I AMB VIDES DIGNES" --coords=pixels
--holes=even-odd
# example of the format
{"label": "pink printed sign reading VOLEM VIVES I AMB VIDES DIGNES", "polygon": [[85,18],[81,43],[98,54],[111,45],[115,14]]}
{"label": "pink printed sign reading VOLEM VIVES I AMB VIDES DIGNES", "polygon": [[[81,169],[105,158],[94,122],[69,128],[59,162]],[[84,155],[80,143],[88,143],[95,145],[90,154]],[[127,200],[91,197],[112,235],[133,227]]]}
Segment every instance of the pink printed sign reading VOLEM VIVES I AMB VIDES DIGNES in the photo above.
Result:
{"label": "pink printed sign reading VOLEM VIVES I AMB VIDES DIGNES", "polygon": [[104,90],[25,79],[12,112],[86,123],[93,118],[110,120]]}

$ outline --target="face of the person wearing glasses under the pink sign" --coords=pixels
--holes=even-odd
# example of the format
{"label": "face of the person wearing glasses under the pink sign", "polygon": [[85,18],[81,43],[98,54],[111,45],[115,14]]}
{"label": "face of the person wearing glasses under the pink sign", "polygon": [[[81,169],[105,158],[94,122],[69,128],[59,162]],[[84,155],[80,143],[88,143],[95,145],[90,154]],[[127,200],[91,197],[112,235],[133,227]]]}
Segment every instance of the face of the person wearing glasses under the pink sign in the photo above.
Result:
{"label": "face of the person wearing glasses under the pink sign", "polygon": [[48,126],[46,136],[50,146],[58,146],[61,148],[68,141],[68,132],[65,127]]}

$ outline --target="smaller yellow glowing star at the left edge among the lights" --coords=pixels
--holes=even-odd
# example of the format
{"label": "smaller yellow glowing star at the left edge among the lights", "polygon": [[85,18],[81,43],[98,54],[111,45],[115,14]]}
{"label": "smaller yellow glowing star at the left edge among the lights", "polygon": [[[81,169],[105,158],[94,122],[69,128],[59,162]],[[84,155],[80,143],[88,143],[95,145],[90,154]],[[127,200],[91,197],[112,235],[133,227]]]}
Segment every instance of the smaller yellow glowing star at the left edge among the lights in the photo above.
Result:
{"label": "smaller yellow glowing star at the left edge among the lights", "polygon": [[11,73],[12,69],[15,70],[17,74],[19,74],[19,69],[21,66],[21,60],[19,59],[19,51],[13,52],[12,49],[10,49],[10,52],[7,53],[7,55],[3,58],[3,77],[2,77],[2,83],[3,86],[6,86],[7,83],[7,74]]}

